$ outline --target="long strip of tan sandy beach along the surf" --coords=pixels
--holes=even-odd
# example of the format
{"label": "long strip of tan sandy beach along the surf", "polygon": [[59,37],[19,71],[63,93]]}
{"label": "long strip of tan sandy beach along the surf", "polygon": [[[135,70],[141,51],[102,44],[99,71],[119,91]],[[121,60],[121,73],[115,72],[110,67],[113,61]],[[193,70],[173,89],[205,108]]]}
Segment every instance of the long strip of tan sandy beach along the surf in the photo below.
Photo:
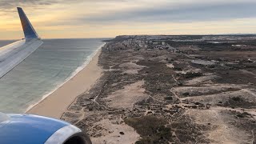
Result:
{"label": "long strip of tan sandy beach along the surf", "polygon": [[37,105],[28,110],[27,114],[39,114],[50,118],[60,118],[78,95],[90,90],[98,78],[102,69],[98,66],[98,57],[101,50],[94,55],[90,63],[78,74],[62,85],[54,93],[43,99]]}

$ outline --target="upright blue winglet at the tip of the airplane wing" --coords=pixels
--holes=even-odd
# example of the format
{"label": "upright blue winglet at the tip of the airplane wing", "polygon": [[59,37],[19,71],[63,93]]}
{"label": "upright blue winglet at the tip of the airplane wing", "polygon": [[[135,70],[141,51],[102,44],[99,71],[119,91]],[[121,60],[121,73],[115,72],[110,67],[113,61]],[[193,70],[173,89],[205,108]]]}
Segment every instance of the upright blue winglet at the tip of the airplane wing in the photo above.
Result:
{"label": "upright blue winglet at the tip of the airplane wing", "polygon": [[37,32],[34,30],[33,26],[30,23],[30,20],[26,17],[26,14],[21,7],[17,7],[18,15],[22,22],[22,28],[26,39],[30,38],[39,38]]}

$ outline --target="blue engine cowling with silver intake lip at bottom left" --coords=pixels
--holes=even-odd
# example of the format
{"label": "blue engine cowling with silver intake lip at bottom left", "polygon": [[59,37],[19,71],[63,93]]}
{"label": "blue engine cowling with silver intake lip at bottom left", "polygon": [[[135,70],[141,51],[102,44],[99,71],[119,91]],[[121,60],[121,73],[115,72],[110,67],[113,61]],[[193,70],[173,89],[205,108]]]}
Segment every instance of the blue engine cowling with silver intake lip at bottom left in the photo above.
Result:
{"label": "blue engine cowling with silver intake lip at bottom left", "polygon": [[54,118],[31,114],[0,113],[1,144],[90,144],[90,138],[78,129]]}

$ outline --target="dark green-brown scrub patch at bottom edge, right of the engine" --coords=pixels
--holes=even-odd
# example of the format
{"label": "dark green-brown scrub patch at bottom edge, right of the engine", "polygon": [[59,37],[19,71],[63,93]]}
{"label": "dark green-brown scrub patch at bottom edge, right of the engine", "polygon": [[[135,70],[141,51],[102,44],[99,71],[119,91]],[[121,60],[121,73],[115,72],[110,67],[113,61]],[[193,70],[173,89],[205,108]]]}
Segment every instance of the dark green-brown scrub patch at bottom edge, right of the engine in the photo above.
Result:
{"label": "dark green-brown scrub patch at bottom edge, right of the engine", "polygon": [[171,130],[167,127],[164,118],[154,116],[143,116],[140,118],[126,118],[127,125],[134,127],[141,139],[136,144],[146,143],[169,143],[171,141]]}

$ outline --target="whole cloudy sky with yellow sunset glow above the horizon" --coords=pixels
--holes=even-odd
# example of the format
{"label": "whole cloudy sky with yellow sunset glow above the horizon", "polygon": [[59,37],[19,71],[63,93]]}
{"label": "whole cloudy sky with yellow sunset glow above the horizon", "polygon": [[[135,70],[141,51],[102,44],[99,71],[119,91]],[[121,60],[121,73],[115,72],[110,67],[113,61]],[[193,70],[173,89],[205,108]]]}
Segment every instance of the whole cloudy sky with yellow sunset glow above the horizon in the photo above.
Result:
{"label": "whole cloudy sky with yellow sunset glow above the horizon", "polygon": [[42,38],[256,34],[255,0],[0,0],[0,39],[24,37],[17,6]]}

